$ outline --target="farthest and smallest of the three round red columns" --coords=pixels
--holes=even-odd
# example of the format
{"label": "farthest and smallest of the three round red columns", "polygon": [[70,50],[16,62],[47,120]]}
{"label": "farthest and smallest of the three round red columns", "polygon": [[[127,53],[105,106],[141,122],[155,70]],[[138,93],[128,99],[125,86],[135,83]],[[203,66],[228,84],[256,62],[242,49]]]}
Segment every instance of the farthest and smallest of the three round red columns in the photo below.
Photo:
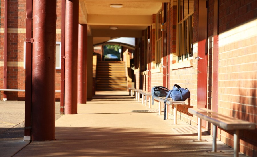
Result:
{"label": "farthest and smallest of the three round red columns", "polygon": [[87,25],[79,24],[78,103],[87,103]]}

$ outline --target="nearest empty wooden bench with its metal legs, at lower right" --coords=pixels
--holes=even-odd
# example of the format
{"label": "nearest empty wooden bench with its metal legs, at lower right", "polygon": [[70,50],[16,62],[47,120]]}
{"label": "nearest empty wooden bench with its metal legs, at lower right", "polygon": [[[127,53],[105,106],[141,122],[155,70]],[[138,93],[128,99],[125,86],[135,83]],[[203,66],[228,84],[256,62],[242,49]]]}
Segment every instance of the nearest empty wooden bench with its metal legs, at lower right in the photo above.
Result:
{"label": "nearest empty wooden bench with its metal legs, at lower right", "polygon": [[207,108],[188,108],[188,112],[198,117],[198,140],[201,140],[202,119],[213,124],[212,151],[217,151],[217,126],[224,130],[234,130],[234,156],[238,157],[239,152],[239,130],[255,129],[255,124],[245,120],[219,114]]}

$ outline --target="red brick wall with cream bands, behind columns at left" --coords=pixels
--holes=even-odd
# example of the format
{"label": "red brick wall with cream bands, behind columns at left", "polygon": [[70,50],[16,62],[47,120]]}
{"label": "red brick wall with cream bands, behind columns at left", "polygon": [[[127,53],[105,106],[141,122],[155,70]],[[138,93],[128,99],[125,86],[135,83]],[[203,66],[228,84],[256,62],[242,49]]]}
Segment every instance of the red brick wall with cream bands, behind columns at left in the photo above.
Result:
{"label": "red brick wall with cream bands, behind columns at left", "polygon": [[[0,88],[3,88],[3,53],[4,53],[4,0],[1,0],[0,21]],[[26,38],[26,0],[8,1],[8,37],[7,37],[7,89],[25,89],[24,42]],[[57,0],[57,35],[61,41],[61,0]],[[56,70],[56,90],[60,90],[61,71]],[[25,100],[25,92],[5,92],[7,100]],[[56,93],[56,100],[60,94]],[[3,92],[0,93],[3,100]]]}

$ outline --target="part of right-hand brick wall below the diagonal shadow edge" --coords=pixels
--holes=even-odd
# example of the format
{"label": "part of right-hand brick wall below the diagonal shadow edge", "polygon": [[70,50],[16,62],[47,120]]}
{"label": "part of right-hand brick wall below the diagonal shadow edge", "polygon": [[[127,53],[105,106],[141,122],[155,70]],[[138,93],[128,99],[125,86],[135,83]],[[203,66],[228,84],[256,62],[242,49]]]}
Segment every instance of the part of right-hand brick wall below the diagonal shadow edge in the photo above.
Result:
{"label": "part of right-hand brick wall below the diagonal shadow edge", "polygon": [[[254,123],[257,123],[256,29],[257,20],[254,19],[220,33],[218,69],[218,111]],[[253,136],[256,133],[256,130],[240,132],[241,152],[257,155],[257,137]],[[232,145],[231,134],[221,131],[221,140]]]}

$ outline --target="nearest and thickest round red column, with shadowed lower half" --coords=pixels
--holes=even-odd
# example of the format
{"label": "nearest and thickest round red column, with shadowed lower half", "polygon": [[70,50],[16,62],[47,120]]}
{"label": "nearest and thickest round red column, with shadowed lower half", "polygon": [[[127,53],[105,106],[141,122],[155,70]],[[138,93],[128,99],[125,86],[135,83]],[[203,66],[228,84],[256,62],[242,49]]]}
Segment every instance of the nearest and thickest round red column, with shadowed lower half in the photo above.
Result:
{"label": "nearest and thickest round red column, with shadowed lower half", "polygon": [[56,0],[33,0],[32,140],[55,139]]}

